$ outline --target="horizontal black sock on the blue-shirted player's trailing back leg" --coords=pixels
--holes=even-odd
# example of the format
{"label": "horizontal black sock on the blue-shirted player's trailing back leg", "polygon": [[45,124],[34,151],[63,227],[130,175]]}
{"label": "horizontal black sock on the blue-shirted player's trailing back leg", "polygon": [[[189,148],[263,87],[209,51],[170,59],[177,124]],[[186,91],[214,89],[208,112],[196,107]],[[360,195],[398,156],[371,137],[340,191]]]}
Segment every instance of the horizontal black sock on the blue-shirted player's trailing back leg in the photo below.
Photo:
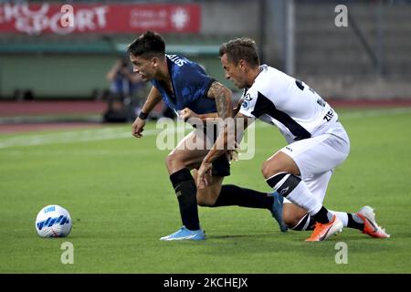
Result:
{"label": "horizontal black sock on the blue-shirted player's trailing back leg", "polygon": [[274,198],[267,193],[241,188],[233,184],[225,184],[221,187],[221,192],[212,207],[237,205],[271,210],[273,203]]}

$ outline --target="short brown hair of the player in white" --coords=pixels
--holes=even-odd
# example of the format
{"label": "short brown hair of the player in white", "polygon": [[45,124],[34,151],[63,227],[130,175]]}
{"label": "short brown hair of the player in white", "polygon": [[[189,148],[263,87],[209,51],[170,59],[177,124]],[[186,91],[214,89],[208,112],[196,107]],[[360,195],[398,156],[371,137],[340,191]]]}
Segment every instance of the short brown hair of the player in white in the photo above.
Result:
{"label": "short brown hair of the player in white", "polygon": [[259,66],[256,42],[251,38],[239,37],[229,40],[220,47],[220,57],[224,54],[227,54],[227,59],[235,65],[240,59],[244,59],[251,66]]}

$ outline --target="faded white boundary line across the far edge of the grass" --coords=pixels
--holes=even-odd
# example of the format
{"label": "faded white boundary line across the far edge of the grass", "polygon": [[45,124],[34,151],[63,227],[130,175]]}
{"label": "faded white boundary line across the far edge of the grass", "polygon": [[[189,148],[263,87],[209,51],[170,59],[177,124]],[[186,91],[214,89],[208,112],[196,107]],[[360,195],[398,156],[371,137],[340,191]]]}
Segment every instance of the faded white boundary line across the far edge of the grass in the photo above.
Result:
{"label": "faded white boundary line across the far edge of the grass", "polygon": [[[393,116],[404,113],[411,112],[411,108],[397,108],[397,109],[387,109],[387,110],[361,110],[355,112],[347,112],[340,114],[342,120],[352,120],[359,118],[371,118],[371,117],[383,117],[383,116]],[[261,123],[258,127],[268,127],[269,125]],[[184,127],[178,127],[176,130],[184,130]],[[144,130],[144,136],[153,136],[161,132],[161,129]],[[76,130],[76,131],[65,131],[58,133],[49,133],[41,135],[25,135],[18,137],[10,137],[1,139],[0,136],[0,149],[10,148],[10,147],[21,147],[21,146],[35,146],[35,145],[46,145],[46,144],[59,144],[59,143],[77,143],[77,142],[87,142],[87,141],[107,141],[114,139],[125,139],[132,138],[132,133],[130,131],[124,131],[122,129],[107,128],[107,129],[97,129],[97,130]]]}

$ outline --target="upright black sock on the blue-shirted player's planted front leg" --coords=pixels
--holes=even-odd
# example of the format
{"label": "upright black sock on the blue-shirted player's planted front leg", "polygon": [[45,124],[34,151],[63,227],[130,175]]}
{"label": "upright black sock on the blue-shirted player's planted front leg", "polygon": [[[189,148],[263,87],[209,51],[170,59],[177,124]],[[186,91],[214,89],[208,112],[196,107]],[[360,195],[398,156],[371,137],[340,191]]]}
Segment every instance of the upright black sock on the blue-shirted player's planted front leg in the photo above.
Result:
{"label": "upright black sock on the blue-shirted player's planted front leg", "polygon": [[197,187],[190,171],[186,168],[170,175],[175,194],[180,206],[181,219],[184,226],[189,230],[200,229],[197,209]]}

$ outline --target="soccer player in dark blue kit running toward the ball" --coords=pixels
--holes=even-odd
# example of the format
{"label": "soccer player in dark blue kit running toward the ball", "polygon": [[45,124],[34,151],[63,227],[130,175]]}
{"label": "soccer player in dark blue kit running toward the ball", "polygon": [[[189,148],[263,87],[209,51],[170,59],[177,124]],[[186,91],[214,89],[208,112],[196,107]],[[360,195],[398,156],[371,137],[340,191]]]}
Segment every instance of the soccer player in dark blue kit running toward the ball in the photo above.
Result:
{"label": "soccer player in dark blue kit running toward the ball", "polygon": [[[236,185],[222,185],[224,177],[230,174],[230,164],[224,155],[213,162],[210,183],[205,189],[197,191],[191,170],[200,166],[208,152],[206,145],[211,146],[216,140],[216,124],[206,121],[233,117],[231,91],[210,78],[195,62],[178,55],[166,55],[163,38],[157,33],[147,31],[137,37],[129,45],[128,53],[133,71],[140,74],[142,80],[150,81],[153,85],[139,117],[132,124],[134,137],[142,137],[149,113],[162,99],[184,120],[197,118],[204,121],[203,127],[197,127],[186,135],[165,160],[177,195],[183,227],[174,234],[160,239],[205,239],[205,233],[200,228],[197,203],[210,207],[239,205],[269,209],[279,222],[281,230],[286,231],[281,219],[281,197],[276,196],[276,193],[260,193]],[[185,147],[188,144],[204,147],[193,150]]]}

